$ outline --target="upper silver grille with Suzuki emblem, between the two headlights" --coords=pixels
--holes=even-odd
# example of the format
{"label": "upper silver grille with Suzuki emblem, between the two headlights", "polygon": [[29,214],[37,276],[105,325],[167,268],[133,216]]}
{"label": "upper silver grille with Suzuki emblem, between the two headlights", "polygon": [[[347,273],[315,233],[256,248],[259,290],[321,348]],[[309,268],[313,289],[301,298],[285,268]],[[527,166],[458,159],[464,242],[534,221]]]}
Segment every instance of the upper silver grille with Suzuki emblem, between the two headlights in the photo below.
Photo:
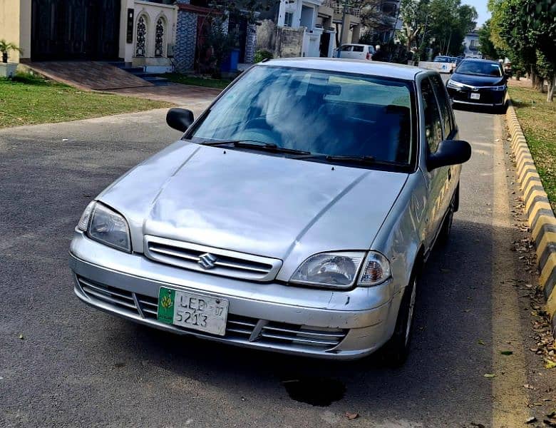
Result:
{"label": "upper silver grille with Suzuki emblem, between the two headlights", "polygon": [[167,265],[212,275],[272,281],[282,260],[145,235],[145,255]]}

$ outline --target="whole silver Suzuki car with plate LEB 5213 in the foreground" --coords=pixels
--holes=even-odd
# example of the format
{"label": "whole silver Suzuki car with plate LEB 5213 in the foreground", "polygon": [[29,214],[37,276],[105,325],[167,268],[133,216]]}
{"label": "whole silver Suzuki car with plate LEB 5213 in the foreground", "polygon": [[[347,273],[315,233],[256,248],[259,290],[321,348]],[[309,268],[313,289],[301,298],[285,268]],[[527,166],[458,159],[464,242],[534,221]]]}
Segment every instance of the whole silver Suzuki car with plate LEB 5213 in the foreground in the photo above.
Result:
{"label": "whole silver Suzuki car with plate LEB 5213 in the foreground", "polygon": [[76,295],[177,334],[401,364],[471,154],[438,73],[277,59],[167,121],[182,138],[79,220]]}

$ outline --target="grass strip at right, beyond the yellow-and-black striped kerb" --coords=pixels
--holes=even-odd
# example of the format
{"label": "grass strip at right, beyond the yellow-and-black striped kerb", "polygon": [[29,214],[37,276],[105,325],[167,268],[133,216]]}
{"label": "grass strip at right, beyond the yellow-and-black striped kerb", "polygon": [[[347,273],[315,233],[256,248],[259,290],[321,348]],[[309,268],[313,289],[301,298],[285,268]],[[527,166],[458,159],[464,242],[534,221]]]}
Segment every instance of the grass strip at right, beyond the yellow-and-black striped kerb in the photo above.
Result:
{"label": "grass strip at right, beyond the yellow-and-black striped kerb", "polygon": [[530,88],[509,88],[518,120],[527,138],[542,185],[556,212],[556,102]]}

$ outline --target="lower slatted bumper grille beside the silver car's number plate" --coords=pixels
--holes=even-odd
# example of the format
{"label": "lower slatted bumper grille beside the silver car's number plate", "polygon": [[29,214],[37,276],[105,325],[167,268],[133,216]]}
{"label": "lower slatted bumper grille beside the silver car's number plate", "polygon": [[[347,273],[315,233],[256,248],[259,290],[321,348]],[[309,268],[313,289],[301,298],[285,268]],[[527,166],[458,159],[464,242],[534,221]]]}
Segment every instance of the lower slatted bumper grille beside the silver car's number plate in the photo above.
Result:
{"label": "lower slatted bumper grille beside the silver car's number plate", "polygon": [[[77,277],[77,280],[81,290],[91,299],[101,300],[119,310],[129,311],[149,320],[157,320],[158,298],[102,285],[83,277]],[[212,336],[195,330],[174,327],[199,335]],[[281,345],[286,348],[331,350],[344,340],[348,331],[260,320],[229,313],[224,339],[235,342],[256,342],[263,345]]]}

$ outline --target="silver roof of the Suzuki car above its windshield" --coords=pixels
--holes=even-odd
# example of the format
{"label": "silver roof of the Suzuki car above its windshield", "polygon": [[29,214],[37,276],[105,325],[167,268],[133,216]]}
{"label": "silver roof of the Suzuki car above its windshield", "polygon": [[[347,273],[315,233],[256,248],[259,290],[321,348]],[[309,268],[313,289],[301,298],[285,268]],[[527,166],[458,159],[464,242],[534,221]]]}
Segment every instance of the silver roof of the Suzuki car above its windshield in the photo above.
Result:
{"label": "silver roof of the Suzuki car above its windshield", "polygon": [[406,66],[404,64],[344,58],[277,58],[259,63],[259,66],[310,68],[321,71],[339,71],[341,73],[384,76],[409,81],[415,80],[415,76],[419,73],[426,73],[426,71],[421,68]]}

